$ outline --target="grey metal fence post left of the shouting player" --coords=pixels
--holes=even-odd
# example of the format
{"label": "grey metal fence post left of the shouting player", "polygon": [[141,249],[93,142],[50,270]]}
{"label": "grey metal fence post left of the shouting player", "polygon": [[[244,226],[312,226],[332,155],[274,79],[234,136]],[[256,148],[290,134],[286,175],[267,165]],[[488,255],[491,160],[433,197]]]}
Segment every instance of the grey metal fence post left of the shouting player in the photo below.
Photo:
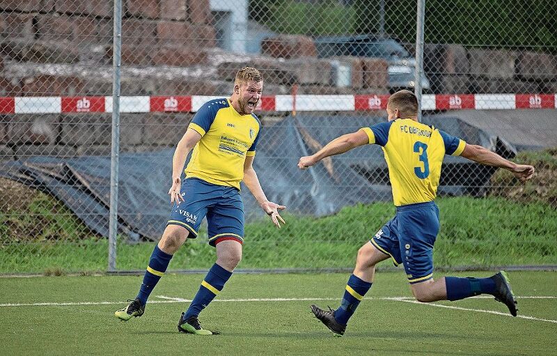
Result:
{"label": "grey metal fence post left of the shouting player", "polygon": [[109,272],[116,270],[118,234],[118,153],[120,151],[120,63],[122,45],[122,0],[114,1],[112,52],[112,142],[110,164]]}

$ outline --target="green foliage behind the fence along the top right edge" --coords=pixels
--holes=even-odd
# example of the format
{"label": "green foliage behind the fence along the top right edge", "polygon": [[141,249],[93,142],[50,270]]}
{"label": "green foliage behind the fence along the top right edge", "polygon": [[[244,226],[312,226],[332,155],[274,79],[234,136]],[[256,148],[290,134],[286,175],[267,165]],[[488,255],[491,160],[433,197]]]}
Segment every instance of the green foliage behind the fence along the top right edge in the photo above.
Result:
{"label": "green foliage behind the fence along the top right edge", "polygon": [[[250,15],[279,33],[379,33],[379,1],[252,0]],[[557,2],[427,0],[425,42],[557,52]],[[386,33],[416,42],[416,0],[385,0]]]}

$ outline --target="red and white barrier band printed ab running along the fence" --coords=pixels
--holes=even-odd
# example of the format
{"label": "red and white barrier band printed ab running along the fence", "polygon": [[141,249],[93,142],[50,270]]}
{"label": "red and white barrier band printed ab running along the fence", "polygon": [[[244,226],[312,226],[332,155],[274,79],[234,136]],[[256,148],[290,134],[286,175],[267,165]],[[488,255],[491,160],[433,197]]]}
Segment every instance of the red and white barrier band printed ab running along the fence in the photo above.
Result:
{"label": "red and white barrier band printed ab running along the fence", "polygon": [[[123,96],[120,112],[194,112],[207,100],[221,96]],[[386,108],[389,95],[273,95],[263,96],[259,111],[366,111]],[[422,95],[423,110],[555,109],[557,94],[439,94]],[[59,114],[112,112],[111,96],[0,97],[0,114]]]}

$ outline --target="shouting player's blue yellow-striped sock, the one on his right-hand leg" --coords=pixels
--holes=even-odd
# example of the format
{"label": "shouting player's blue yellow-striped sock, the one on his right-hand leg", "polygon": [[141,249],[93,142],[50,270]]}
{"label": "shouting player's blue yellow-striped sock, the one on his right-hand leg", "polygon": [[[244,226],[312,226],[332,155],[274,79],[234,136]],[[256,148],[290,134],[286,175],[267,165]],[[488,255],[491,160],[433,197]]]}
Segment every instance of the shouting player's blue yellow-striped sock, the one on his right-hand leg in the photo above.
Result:
{"label": "shouting player's blue yellow-striped sock, the one on his right-hand leg", "polygon": [[232,272],[228,272],[215,263],[205,276],[205,279],[201,282],[199,291],[197,291],[194,300],[191,301],[189,308],[184,314],[184,319],[191,316],[198,316],[199,313],[201,313],[201,311],[209,305],[214,297],[222,291],[224,284],[228,281],[231,275]]}

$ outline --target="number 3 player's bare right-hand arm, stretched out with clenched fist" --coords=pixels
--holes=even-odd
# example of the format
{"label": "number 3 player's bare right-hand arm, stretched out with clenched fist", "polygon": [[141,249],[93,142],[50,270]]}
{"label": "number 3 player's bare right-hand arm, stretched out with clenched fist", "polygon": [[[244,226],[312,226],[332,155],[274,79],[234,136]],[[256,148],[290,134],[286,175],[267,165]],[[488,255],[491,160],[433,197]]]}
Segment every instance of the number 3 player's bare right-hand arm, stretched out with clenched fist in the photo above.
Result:
{"label": "number 3 player's bare right-hand arm, stretched out with clenched fist", "polygon": [[516,164],[515,162],[505,160],[505,158],[497,153],[482,146],[466,144],[460,155],[480,164],[507,169],[523,182],[532,178],[534,174],[533,166],[528,164]]}

